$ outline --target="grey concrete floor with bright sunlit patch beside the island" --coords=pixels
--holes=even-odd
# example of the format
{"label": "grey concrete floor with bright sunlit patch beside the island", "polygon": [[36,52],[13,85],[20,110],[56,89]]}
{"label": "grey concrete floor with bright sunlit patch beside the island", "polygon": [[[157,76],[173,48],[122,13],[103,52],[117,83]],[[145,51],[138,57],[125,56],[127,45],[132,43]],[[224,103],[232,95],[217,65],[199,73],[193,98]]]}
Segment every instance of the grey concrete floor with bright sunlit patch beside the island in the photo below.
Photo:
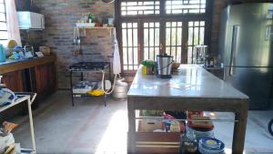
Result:
{"label": "grey concrete floor with bright sunlit patch beside the island", "polygon": [[[34,111],[37,153],[126,153],[126,101],[102,98],[80,99],[70,103],[68,91],[58,91]],[[217,113],[218,118],[234,118],[231,113]],[[273,153],[273,137],[267,126],[273,111],[249,111],[245,153]],[[21,147],[31,146],[27,117],[15,118],[20,124],[14,132]],[[231,148],[233,123],[214,123],[215,137]]]}

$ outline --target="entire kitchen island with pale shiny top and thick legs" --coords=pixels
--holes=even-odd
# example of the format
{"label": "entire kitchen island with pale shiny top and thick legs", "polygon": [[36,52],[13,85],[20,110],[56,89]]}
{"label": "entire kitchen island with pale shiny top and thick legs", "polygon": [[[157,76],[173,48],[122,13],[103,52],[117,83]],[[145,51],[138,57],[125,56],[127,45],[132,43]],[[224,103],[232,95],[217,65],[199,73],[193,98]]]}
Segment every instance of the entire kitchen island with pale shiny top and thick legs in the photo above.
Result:
{"label": "entire kitchen island with pale shiny top and thick legs", "polygon": [[200,66],[181,65],[170,79],[142,75],[138,68],[127,94],[128,153],[136,153],[136,110],[220,111],[235,114],[232,153],[243,153],[248,96]]}

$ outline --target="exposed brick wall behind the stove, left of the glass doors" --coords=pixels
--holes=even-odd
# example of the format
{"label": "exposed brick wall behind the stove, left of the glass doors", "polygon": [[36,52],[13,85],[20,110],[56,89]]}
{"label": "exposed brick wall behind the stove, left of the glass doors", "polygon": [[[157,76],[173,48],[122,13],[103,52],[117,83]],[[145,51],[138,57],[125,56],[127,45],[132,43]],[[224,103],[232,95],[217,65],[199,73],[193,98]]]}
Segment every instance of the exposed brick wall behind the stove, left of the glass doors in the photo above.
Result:
{"label": "exposed brick wall behind the stove, left of the glass doors", "polygon": [[113,41],[106,29],[86,30],[86,36],[81,37],[83,55],[74,56],[73,28],[83,15],[113,17],[114,4],[105,4],[101,0],[34,0],[33,3],[45,15],[42,43],[56,53],[59,88],[69,87],[69,65],[79,61],[112,60]]}

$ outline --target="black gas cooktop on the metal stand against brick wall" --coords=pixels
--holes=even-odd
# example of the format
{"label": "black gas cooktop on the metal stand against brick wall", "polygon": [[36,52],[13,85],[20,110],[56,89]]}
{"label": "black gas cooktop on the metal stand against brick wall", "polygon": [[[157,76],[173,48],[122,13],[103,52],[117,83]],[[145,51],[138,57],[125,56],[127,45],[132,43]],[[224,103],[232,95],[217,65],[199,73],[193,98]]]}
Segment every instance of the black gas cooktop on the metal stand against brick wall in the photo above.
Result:
{"label": "black gas cooktop on the metal stand against brick wall", "polygon": [[69,67],[70,70],[103,70],[109,67],[108,62],[79,62]]}

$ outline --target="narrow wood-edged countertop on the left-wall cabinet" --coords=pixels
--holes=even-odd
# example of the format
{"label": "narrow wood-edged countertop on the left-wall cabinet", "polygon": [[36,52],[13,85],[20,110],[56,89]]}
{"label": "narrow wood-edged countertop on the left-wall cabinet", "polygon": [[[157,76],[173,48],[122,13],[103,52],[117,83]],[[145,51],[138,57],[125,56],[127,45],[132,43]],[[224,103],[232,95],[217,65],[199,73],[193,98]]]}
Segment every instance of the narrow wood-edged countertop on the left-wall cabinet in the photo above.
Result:
{"label": "narrow wood-edged countertop on the left-wall cabinet", "polygon": [[55,62],[56,56],[43,56],[28,59],[6,59],[5,62],[0,62],[0,74],[22,70],[28,67],[35,67],[45,63]]}

